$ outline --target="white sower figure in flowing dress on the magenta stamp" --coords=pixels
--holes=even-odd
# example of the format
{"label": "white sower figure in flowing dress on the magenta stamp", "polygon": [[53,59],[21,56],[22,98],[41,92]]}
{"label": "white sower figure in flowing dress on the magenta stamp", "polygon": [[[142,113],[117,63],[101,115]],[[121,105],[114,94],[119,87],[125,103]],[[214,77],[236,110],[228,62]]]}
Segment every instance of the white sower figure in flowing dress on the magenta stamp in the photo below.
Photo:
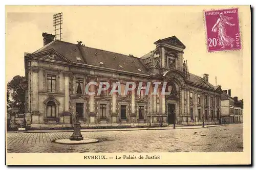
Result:
{"label": "white sower figure in flowing dress on the magenta stamp", "polygon": [[233,47],[233,41],[234,39],[229,37],[226,34],[225,25],[229,26],[235,26],[234,23],[230,23],[229,20],[231,20],[232,17],[224,16],[223,13],[220,13],[220,17],[218,18],[217,22],[215,23],[214,27],[211,28],[212,32],[218,31],[218,39],[219,43],[218,45],[221,45],[221,48],[225,48],[225,46],[231,45]]}

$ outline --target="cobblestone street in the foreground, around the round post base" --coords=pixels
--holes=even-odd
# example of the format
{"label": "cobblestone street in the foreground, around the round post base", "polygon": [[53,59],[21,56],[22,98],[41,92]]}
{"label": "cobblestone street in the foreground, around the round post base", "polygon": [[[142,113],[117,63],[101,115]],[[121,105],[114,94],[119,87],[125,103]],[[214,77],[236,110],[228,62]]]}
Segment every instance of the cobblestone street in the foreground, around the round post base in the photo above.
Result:
{"label": "cobblestone street in the foreground, around the round post base", "polygon": [[8,153],[242,152],[243,125],[204,129],[82,132],[91,144],[58,144],[72,132],[8,133]]}

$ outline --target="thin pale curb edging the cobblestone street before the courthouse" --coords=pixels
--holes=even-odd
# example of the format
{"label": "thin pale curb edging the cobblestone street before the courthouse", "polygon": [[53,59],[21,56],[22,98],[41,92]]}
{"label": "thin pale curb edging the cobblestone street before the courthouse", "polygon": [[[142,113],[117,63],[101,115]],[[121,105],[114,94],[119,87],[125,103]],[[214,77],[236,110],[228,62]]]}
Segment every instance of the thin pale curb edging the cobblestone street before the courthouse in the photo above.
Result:
{"label": "thin pale curb edging the cobblestone street before the courthouse", "polygon": [[[207,125],[205,125],[205,127],[202,127],[202,126],[200,126],[200,127],[193,127],[193,128],[188,128],[188,127],[184,127],[184,128],[180,128],[180,127],[176,127],[175,129],[173,128],[173,127],[171,127],[171,128],[146,128],[146,129],[118,129],[118,130],[111,130],[111,129],[109,129],[109,130],[90,130],[90,131],[88,131],[88,130],[86,130],[86,129],[81,129],[81,132],[116,132],[116,131],[142,131],[142,130],[178,130],[178,129],[203,129],[203,128],[211,128],[211,127],[222,127],[222,126],[228,126],[229,124],[226,124],[226,125],[215,125],[215,126],[207,126]],[[189,126],[189,127],[191,127],[191,126]],[[13,132],[7,132],[7,133],[59,133],[59,132],[73,132],[73,130],[70,130],[70,131],[63,131],[63,130],[59,130],[59,131],[55,131],[55,132],[51,132],[51,131],[49,131],[49,132],[38,132],[38,131],[36,131],[36,132],[28,132],[28,131],[20,131],[20,132],[18,132],[18,131],[13,131]]]}

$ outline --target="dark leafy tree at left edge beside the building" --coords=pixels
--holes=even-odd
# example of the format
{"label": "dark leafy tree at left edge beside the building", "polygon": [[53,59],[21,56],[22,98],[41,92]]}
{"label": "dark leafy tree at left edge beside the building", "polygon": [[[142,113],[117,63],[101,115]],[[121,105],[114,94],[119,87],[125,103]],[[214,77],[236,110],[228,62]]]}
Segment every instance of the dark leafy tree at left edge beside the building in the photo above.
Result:
{"label": "dark leafy tree at left edge beside the building", "polygon": [[19,112],[25,113],[25,90],[26,78],[19,75],[13,77],[7,84],[7,107],[17,107]]}

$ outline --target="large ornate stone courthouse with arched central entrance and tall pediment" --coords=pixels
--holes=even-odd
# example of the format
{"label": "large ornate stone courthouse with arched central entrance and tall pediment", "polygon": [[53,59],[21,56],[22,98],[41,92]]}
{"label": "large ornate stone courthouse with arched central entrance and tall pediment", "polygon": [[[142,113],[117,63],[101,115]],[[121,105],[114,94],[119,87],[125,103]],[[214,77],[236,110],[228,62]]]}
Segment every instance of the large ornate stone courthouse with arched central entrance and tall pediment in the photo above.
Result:
{"label": "large ornate stone courthouse with arched central entrance and tall pediment", "polygon": [[[83,128],[147,127],[168,124],[219,123],[221,86],[189,72],[185,45],[175,36],[156,41],[156,48],[138,58],[54,40],[43,33],[44,46],[25,53],[26,122],[31,128],[71,127],[76,117]],[[88,95],[89,82],[162,82],[158,94],[137,88],[127,94],[110,90]],[[169,95],[160,92],[167,82]],[[157,85],[156,85],[157,86]],[[90,90],[99,88],[91,85]],[[111,89],[111,88],[110,88]]]}

